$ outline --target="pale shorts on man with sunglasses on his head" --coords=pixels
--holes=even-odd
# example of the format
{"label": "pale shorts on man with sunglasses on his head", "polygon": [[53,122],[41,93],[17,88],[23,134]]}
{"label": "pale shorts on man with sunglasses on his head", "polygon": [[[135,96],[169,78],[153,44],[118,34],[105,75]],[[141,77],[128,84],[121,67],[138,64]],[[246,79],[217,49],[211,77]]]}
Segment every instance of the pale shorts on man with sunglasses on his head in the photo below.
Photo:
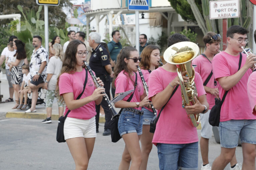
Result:
{"label": "pale shorts on man with sunglasses on his head", "polygon": [[212,137],[213,126],[209,123],[209,114],[211,110],[208,110],[206,113],[200,113],[201,121],[201,137],[210,139]]}

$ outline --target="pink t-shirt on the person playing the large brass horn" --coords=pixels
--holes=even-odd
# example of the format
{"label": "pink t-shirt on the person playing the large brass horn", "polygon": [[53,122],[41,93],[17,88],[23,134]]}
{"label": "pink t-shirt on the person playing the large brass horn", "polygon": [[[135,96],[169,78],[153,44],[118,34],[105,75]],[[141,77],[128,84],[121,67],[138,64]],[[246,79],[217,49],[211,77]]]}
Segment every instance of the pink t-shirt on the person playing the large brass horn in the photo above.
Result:
{"label": "pink t-shirt on the person playing the large brass horn", "polygon": [[[166,86],[177,76],[158,68],[149,76],[149,97],[163,91]],[[195,84],[198,96],[206,94],[200,75],[195,72]],[[157,110],[159,114],[160,110]],[[197,128],[194,127],[190,119],[187,118],[185,109],[182,108],[182,98],[180,86],[166,104],[156,124],[156,130],[152,143],[184,144],[198,142]]]}

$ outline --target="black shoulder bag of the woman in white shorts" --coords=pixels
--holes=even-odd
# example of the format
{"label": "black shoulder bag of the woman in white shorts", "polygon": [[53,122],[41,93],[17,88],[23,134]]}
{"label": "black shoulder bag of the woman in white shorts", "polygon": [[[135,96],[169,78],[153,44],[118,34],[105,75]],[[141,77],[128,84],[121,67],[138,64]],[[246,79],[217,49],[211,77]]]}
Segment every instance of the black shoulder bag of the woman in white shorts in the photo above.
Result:
{"label": "black shoulder bag of the woman in white shorts", "polygon": [[[85,76],[85,83],[84,83],[84,89],[83,89],[83,92],[81,94],[79,94],[79,96],[77,97],[77,99],[79,99],[82,94],[84,93],[85,91],[85,86],[87,84],[87,77],[88,77],[88,71],[87,69],[86,70],[86,76]],[[77,100],[76,99],[76,100]],[[63,128],[64,128],[64,122],[69,114],[70,110],[68,110],[68,112],[66,113],[66,115],[63,117],[61,116],[59,118],[59,123],[58,123],[58,127],[57,127],[57,134],[56,134],[56,140],[57,142],[61,143],[61,142],[66,142],[65,138],[64,138],[64,132],[63,132]]]}

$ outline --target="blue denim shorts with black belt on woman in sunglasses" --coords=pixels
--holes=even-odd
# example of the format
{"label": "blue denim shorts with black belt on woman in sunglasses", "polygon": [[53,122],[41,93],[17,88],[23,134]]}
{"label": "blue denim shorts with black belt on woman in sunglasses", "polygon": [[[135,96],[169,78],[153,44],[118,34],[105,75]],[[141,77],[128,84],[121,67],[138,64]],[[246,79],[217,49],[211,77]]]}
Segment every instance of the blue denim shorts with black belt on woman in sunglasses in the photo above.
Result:
{"label": "blue denim shorts with black belt on woman in sunglasses", "polygon": [[118,120],[118,131],[120,136],[126,133],[137,132],[142,134],[143,115],[135,114],[130,111],[122,111]]}

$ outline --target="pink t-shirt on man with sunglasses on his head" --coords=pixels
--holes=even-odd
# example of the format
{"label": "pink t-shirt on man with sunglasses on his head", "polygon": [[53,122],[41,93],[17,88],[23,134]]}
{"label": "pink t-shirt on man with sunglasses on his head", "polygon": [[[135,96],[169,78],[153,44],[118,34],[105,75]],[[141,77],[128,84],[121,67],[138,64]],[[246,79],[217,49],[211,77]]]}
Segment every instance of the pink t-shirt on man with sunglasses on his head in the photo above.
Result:
{"label": "pink t-shirt on man with sunglasses on his head", "polygon": [[[192,61],[192,64],[197,65],[197,67],[195,67],[194,69],[200,74],[204,83],[212,72],[212,63],[210,63],[210,61],[204,56],[199,55]],[[206,86],[211,88],[218,88],[217,85],[214,85],[214,75],[212,75]],[[211,110],[212,107],[215,105],[215,97],[216,96],[211,93],[206,93],[207,102],[209,103],[209,110]]]}

